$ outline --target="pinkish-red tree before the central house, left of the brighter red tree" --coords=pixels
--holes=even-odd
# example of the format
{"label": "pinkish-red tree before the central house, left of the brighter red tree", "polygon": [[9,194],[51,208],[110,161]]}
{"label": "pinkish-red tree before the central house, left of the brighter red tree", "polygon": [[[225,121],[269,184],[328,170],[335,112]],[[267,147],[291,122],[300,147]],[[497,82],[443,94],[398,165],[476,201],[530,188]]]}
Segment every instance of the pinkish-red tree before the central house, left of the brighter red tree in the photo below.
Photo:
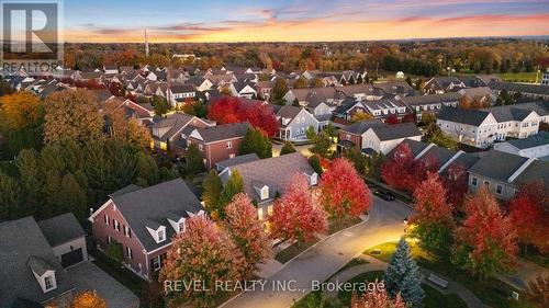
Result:
{"label": "pinkish-red tree before the central house, left of the brighter red tree", "polygon": [[278,198],[268,218],[272,238],[310,241],[327,230],[327,218],[309,190],[305,175],[295,173],[291,184]]}

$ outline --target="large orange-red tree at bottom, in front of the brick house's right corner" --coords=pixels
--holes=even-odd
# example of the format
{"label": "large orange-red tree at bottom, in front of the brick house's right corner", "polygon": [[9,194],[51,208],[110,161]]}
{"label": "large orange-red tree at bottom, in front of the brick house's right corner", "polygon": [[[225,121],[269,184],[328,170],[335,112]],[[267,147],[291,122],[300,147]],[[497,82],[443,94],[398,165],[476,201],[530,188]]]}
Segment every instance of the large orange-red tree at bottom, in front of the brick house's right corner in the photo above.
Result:
{"label": "large orange-red tree at bottom, in front of the brick house's right corner", "polygon": [[202,215],[194,216],[187,220],[184,232],[172,239],[159,282],[200,282],[182,292],[166,288],[166,298],[172,304],[187,299],[193,307],[211,307],[220,292],[216,282],[240,281],[244,264],[244,256],[223,228]]}

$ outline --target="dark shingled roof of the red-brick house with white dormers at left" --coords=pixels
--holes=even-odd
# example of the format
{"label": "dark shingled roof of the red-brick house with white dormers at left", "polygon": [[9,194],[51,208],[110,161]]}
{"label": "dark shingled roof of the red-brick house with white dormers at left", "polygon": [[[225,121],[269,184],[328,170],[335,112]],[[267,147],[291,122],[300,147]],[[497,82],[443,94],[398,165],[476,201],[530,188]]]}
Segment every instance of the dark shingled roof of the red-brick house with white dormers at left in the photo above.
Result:
{"label": "dark shingled roof of the red-brick house with white dormers at left", "polygon": [[[187,213],[197,214],[203,209],[200,201],[180,178],[138,191],[117,194],[111,199],[147,251],[171,241],[176,231],[167,220],[170,214],[186,217]],[[166,226],[166,241],[157,243],[153,239],[146,228],[149,221]]]}

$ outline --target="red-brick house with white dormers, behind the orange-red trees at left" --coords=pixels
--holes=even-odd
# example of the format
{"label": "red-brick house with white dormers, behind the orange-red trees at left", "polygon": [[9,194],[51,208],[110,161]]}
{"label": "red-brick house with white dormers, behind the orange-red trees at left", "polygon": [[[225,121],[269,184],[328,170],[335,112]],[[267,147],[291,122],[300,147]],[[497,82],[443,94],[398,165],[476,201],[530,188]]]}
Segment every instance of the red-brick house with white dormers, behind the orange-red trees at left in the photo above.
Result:
{"label": "red-brick house with white dormers, behind the orange-red trees at left", "polygon": [[117,242],[123,264],[145,280],[159,271],[171,238],[184,231],[186,219],[203,215],[200,201],[181,179],[149,187],[128,185],[90,217],[93,238],[100,250]]}

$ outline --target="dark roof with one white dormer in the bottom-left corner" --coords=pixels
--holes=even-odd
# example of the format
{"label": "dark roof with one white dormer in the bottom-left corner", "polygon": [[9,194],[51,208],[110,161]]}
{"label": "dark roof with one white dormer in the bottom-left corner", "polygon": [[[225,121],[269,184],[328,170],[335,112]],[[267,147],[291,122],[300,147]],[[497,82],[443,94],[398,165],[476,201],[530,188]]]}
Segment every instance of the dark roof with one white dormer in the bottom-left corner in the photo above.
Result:
{"label": "dark roof with one white dormer in the bottom-left corner", "polygon": [[[74,289],[70,277],[30,216],[0,223],[0,264],[1,307],[13,307],[18,298],[44,303]],[[31,267],[40,272],[55,270],[57,288],[44,294]]]}

